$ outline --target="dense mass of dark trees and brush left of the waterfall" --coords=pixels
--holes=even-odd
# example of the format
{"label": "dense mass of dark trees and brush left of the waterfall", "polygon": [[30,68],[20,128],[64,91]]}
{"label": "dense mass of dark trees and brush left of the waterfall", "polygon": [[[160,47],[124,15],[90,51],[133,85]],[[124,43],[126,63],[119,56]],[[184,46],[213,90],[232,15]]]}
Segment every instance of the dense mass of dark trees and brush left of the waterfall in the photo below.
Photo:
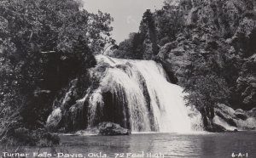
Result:
{"label": "dense mass of dark trees and brush left of the waterfall", "polygon": [[44,131],[61,89],[95,65],[94,52],[114,42],[111,21],[75,0],[0,1],[1,141],[40,138],[35,130]]}

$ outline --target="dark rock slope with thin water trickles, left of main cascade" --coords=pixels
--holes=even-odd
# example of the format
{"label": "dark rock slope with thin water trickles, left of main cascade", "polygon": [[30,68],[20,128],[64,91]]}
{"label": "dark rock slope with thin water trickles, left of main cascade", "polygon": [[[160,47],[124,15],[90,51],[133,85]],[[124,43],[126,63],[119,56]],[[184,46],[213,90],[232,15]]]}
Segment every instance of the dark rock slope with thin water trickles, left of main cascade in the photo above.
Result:
{"label": "dark rock slope with thin water trickles, left of main cascade", "polygon": [[[94,82],[94,84],[92,83]],[[70,133],[87,127],[87,109],[83,108],[84,93],[91,86],[96,86],[96,80],[90,81],[88,72],[73,79],[67,88],[63,88],[53,102],[53,111],[46,121],[46,127],[53,132]],[[84,105],[85,104],[85,105]]]}

